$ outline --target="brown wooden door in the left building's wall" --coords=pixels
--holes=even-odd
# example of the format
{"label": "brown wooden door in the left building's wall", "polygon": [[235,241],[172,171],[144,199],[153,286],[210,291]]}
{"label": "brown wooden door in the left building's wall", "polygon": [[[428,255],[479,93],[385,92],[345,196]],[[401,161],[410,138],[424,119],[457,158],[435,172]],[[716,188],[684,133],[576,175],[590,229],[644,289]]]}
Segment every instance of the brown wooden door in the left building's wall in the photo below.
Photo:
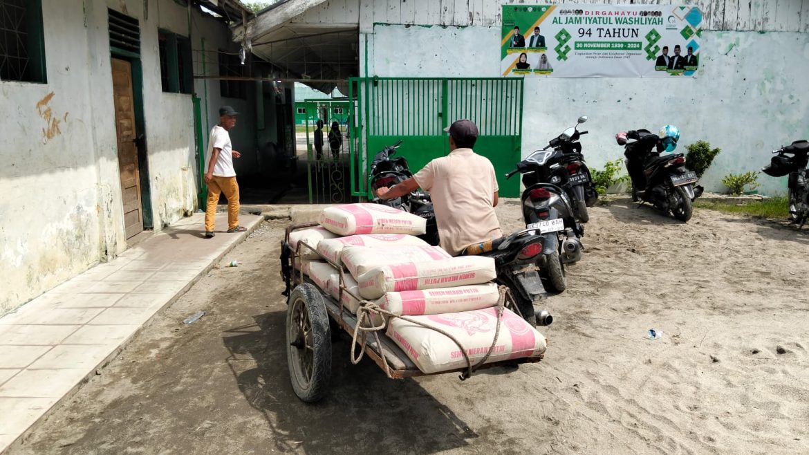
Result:
{"label": "brown wooden door in the left building's wall", "polygon": [[124,227],[129,239],[143,231],[141,176],[135,142],[135,105],[132,95],[132,65],[112,58],[112,97],[115,100],[115,128],[118,136],[118,168],[124,202]]}

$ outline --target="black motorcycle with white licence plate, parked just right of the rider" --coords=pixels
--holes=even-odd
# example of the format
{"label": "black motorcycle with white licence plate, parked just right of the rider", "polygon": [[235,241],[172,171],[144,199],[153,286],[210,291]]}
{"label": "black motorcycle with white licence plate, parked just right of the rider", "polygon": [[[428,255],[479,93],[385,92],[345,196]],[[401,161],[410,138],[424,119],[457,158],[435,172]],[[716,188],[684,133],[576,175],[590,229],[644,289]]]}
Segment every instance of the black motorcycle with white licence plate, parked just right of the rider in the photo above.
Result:
{"label": "black motorcycle with white licence plate, parked just right of the rider", "polygon": [[[547,161],[555,151],[535,151],[506,174],[506,179],[520,172],[529,174],[548,172]],[[570,197],[557,185],[538,182],[523,191],[520,197],[523,220],[527,229],[536,229],[544,234],[542,255],[537,264],[548,275],[550,287],[561,292],[567,288],[565,264],[582,258],[581,237],[584,228],[575,219]]]}

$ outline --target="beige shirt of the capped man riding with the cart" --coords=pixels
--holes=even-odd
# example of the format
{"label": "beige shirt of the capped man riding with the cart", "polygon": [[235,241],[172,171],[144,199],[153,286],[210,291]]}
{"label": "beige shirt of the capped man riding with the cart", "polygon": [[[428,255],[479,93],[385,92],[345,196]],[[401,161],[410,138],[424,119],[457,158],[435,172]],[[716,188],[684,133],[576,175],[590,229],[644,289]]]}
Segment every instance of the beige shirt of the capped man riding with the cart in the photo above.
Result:
{"label": "beige shirt of the capped man riding with the cart", "polygon": [[473,243],[502,237],[492,206],[498,181],[489,159],[471,148],[456,148],[413,178],[430,191],[441,248],[447,253],[456,256]]}

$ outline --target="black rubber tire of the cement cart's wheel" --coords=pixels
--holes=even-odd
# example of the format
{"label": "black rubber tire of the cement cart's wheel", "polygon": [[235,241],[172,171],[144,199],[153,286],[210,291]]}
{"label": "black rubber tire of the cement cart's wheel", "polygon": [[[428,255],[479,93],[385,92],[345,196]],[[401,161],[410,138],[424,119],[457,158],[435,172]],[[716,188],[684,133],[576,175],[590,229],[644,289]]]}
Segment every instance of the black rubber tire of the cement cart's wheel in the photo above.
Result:
{"label": "black rubber tire of the cement cart's wheel", "polygon": [[[294,314],[300,305],[311,325],[312,372],[309,380],[303,376],[298,347],[292,346],[292,332],[296,330]],[[297,331],[297,330],[296,330]],[[302,402],[318,402],[326,393],[332,376],[332,338],[328,326],[328,312],[323,295],[317,287],[304,283],[290,293],[286,311],[286,363],[290,371],[290,383],[295,395]]]}

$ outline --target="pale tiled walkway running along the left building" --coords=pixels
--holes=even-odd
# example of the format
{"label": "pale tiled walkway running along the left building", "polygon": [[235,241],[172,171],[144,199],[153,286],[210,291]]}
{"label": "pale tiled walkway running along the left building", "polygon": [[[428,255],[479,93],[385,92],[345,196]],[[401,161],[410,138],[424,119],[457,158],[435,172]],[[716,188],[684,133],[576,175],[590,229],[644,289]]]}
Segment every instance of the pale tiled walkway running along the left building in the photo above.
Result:
{"label": "pale tiled walkway running along the left building", "polygon": [[0,318],[0,453],[263,219],[240,215],[248,232],[228,234],[227,215],[217,215],[216,236],[205,239],[203,216],[181,219]]}

